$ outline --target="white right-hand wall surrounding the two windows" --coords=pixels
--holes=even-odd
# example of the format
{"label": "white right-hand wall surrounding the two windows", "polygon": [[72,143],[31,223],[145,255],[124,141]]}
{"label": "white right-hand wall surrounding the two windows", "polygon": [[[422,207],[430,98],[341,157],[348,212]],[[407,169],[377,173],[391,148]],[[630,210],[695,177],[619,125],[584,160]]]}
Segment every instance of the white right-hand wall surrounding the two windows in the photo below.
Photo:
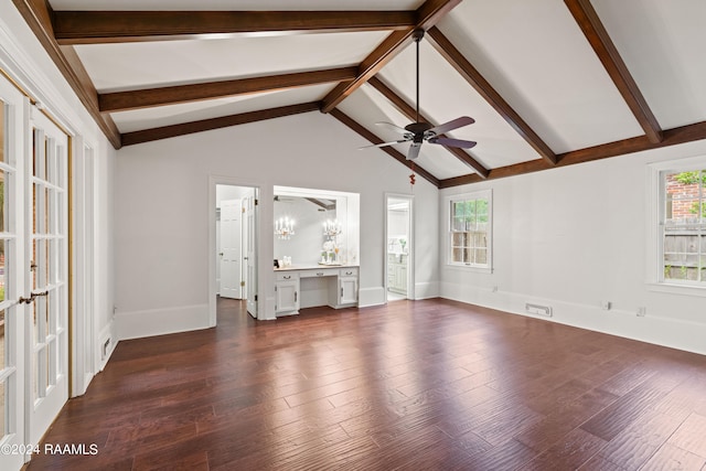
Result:
{"label": "white right-hand wall surrounding the two windows", "polygon": [[706,141],[441,191],[440,214],[480,189],[494,205],[492,274],[446,266],[440,231],[441,296],[516,313],[537,302],[556,322],[706,353],[706,297],[651,289],[645,261],[649,163],[699,154]]}

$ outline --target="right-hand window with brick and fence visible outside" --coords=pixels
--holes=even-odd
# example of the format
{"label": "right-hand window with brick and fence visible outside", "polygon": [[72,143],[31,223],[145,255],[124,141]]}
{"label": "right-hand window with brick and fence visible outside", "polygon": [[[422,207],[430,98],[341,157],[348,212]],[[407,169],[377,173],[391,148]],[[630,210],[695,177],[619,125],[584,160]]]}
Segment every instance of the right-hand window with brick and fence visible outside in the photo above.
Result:
{"label": "right-hand window with brick and fence visible outside", "polygon": [[660,172],[662,283],[706,288],[705,169],[706,164]]}

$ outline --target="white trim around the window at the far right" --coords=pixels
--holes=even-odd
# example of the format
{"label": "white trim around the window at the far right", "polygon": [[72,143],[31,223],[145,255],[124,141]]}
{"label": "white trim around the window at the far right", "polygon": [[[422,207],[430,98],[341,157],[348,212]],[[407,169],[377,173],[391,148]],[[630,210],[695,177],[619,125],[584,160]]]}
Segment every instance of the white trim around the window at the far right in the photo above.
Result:
{"label": "white trim around the window at the far right", "polygon": [[663,220],[664,205],[662,204],[662,173],[684,172],[697,168],[706,168],[706,156],[689,157],[680,160],[656,162],[648,165],[648,202],[645,218],[648,227],[646,244],[646,281],[650,291],[668,292],[673,295],[688,295],[706,297],[706,286],[695,286],[678,280],[665,280],[663,271],[664,246],[662,244],[662,231],[660,228]]}

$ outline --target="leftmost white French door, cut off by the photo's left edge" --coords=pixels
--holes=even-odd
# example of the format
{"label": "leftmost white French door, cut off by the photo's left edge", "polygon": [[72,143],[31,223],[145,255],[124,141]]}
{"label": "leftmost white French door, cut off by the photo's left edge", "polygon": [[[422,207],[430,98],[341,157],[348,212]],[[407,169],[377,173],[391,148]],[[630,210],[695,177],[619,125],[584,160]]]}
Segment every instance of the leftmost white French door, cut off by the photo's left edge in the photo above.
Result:
{"label": "leftmost white French door, cut off by the photo's left edge", "polygon": [[[25,98],[0,76],[0,469],[19,470],[25,429]],[[9,447],[9,448],[8,448]],[[31,450],[30,450],[31,451]]]}

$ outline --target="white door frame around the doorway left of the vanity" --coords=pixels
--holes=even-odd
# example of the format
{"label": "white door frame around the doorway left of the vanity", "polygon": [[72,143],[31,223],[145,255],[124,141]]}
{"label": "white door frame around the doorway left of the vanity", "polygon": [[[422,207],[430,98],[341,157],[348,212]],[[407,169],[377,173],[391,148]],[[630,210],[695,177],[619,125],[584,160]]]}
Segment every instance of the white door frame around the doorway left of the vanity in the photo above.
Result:
{"label": "white door frame around the doorway left of the vanity", "polygon": [[[216,264],[217,254],[216,254],[216,186],[217,185],[231,185],[231,186],[246,186],[260,192],[261,194],[261,184],[256,184],[252,182],[244,182],[240,179],[227,175],[208,175],[208,206],[206,208],[206,214],[208,214],[208,327],[216,327],[217,323],[217,292],[218,285],[216,282]],[[255,227],[256,236],[259,235],[259,224]],[[259,265],[260,254],[259,254],[259,245],[256,248],[256,264]],[[259,280],[258,280],[259,281]],[[258,299],[261,301],[261,296],[259,295],[260,283],[258,282]],[[260,302],[258,301],[258,302]],[[261,302],[260,302],[261,307]],[[261,309],[258,310],[261,312]],[[258,314],[259,318],[259,314]]]}

